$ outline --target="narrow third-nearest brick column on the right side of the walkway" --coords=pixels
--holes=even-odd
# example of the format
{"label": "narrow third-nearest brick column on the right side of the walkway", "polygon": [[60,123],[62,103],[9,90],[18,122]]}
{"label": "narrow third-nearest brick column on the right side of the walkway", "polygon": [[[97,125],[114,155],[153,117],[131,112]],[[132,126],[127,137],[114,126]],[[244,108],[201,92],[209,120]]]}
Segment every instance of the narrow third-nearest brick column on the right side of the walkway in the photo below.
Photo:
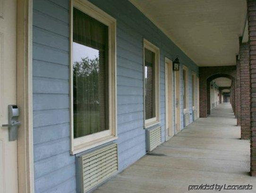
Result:
{"label": "narrow third-nearest brick column on the right side of the walkway", "polygon": [[236,108],[237,126],[241,126],[241,92],[240,92],[240,61],[237,57],[237,80],[236,80]]}

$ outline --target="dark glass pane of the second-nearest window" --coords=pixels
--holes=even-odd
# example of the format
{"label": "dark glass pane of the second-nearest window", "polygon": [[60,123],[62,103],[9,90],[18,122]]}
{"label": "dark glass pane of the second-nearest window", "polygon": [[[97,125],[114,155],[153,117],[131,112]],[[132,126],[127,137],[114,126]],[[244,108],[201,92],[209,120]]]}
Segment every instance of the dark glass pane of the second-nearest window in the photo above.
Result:
{"label": "dark glass pane of the second-nearest window", "polygon": [[145,119],[155,115],[155,53],[145,48]]}

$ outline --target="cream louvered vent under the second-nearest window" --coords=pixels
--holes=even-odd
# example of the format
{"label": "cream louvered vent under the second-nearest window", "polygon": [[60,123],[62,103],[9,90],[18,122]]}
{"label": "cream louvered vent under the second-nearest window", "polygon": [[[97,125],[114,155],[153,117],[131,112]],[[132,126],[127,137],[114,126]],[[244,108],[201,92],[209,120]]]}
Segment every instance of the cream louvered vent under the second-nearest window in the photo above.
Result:
{"label": "cream louvered vent under the second-nearest window", "polygon": [[146,130],[146,151],[152,151],[161,144],[161,127]]}

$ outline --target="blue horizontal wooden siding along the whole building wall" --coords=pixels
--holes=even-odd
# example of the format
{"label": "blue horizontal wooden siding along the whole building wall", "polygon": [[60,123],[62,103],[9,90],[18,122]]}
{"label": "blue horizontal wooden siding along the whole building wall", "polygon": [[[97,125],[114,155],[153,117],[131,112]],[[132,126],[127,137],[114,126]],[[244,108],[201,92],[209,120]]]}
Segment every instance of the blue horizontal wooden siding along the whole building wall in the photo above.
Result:
{"label": "blue horizontal wooden siding along the whole building wall", "polygon": [[[165,140],[164,57],[175,59],[178,55],[181,64],[189,68],[189,88],[191,70],[198,73],[198,67],[128,0],[90,1],[117,19],[117,143],[121,171],[145,155],[143,38],[160,48],[162,142]],[[69,0],[33,3],[35,193],[75,192],[75,157],[69,154]],[[191,100],[189,107],[192,110]]]}

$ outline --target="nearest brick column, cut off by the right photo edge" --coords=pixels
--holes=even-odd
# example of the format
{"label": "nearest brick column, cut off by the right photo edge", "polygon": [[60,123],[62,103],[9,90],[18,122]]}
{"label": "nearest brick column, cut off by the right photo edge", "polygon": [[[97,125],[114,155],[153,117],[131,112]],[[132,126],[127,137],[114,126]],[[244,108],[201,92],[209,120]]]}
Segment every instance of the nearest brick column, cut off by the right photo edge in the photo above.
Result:
{"label": "nearest brick column, cut off by the right photo edge", "polygon": [[251,82],[250,94],[251,94],[251,101],[252,101],[251,109],[250,109],[251,111],[251,175],[256,176],[256,0],[247,0],[247,15],[248,15],[248,34],[249,34],[248,43],[249,43],[249,54],[250,54],[250,82]]}

